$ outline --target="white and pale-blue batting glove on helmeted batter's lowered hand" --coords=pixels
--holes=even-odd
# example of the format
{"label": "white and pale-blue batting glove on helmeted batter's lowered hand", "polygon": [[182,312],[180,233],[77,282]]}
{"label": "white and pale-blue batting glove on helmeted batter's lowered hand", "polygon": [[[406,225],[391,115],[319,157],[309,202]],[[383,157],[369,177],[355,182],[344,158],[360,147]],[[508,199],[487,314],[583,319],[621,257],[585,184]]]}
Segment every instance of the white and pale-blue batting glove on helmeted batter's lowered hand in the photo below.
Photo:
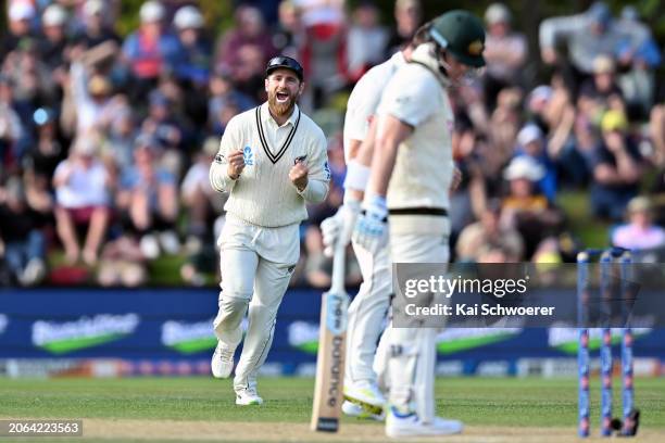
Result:
{"label": "white and pale-blue batting glove on helmeted batter's lowered hand", "polygon": [[372,254],[376,254],[388,242],[388,208],[386,198],[374,195],[364,205],[357,217],[353,241]]}

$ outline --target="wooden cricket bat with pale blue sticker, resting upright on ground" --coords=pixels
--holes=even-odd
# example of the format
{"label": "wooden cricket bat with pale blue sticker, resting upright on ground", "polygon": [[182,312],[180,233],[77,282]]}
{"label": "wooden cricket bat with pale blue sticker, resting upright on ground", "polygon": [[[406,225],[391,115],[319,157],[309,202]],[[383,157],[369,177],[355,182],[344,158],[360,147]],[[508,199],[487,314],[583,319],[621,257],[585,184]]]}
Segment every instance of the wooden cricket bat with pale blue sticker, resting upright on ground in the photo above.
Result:
{"label": "wooden cricket bat with pale blue sticker, resting upright on ground", "polygon": [[332,258],[330,290],[321,300],[313,431],[337,432],[343,401],[349,295],[344,290],[346,245],[338,242]]}

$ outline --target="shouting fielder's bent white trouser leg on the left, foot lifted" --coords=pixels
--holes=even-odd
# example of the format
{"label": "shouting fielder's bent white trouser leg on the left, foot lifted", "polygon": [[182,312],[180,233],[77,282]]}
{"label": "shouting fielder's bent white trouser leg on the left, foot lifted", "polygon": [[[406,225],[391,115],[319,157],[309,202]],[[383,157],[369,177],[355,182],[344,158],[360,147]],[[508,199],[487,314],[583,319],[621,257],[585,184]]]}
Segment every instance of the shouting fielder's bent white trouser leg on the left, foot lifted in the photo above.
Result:
{"label": "shouting fielder's bent white trouser leg on the left, foot lifted", "polygon": [[258,263],[256,253],[240,245],[222,250],[222,291],[213,326],[217,339],[230,349],[242,340],[240,324],[252,298]]}

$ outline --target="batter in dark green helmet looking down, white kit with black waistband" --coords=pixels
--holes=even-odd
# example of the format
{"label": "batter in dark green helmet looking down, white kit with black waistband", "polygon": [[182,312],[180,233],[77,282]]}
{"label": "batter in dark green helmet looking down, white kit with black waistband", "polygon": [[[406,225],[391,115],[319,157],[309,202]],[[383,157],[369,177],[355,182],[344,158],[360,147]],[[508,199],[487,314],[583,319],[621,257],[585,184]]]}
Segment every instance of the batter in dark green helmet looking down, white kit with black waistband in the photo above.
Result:
{"label": "batter in dark green helmet looking down, white kit with black waistband", "polygon": [[[377,110],[376,148],[354,239],[369,251],[388,241],[396,263],[448,263],[453,180],[453,112],[447,88],[485,65],[485,30],[466,11],[437,17],[430,41],[392,76]],[[390,233],[388,233],[388,225]],[[437,329],[391,328],[389,436],[459,433],[435,416]]]}

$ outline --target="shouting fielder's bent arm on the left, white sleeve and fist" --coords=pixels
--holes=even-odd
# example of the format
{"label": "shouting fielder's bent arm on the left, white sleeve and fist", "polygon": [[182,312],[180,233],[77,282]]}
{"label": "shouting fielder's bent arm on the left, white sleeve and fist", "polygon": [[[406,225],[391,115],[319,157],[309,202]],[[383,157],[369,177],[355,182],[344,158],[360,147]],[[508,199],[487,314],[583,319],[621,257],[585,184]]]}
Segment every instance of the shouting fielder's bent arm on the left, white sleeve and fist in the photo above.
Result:
{"label": "shouting fielder's bent arm on the left, white sleeve and fist", "polygon": [[236,123],[236,118],[228,123],[217,155],[210,166],[210,185],[217,192],[230,192],[244,167]]}

